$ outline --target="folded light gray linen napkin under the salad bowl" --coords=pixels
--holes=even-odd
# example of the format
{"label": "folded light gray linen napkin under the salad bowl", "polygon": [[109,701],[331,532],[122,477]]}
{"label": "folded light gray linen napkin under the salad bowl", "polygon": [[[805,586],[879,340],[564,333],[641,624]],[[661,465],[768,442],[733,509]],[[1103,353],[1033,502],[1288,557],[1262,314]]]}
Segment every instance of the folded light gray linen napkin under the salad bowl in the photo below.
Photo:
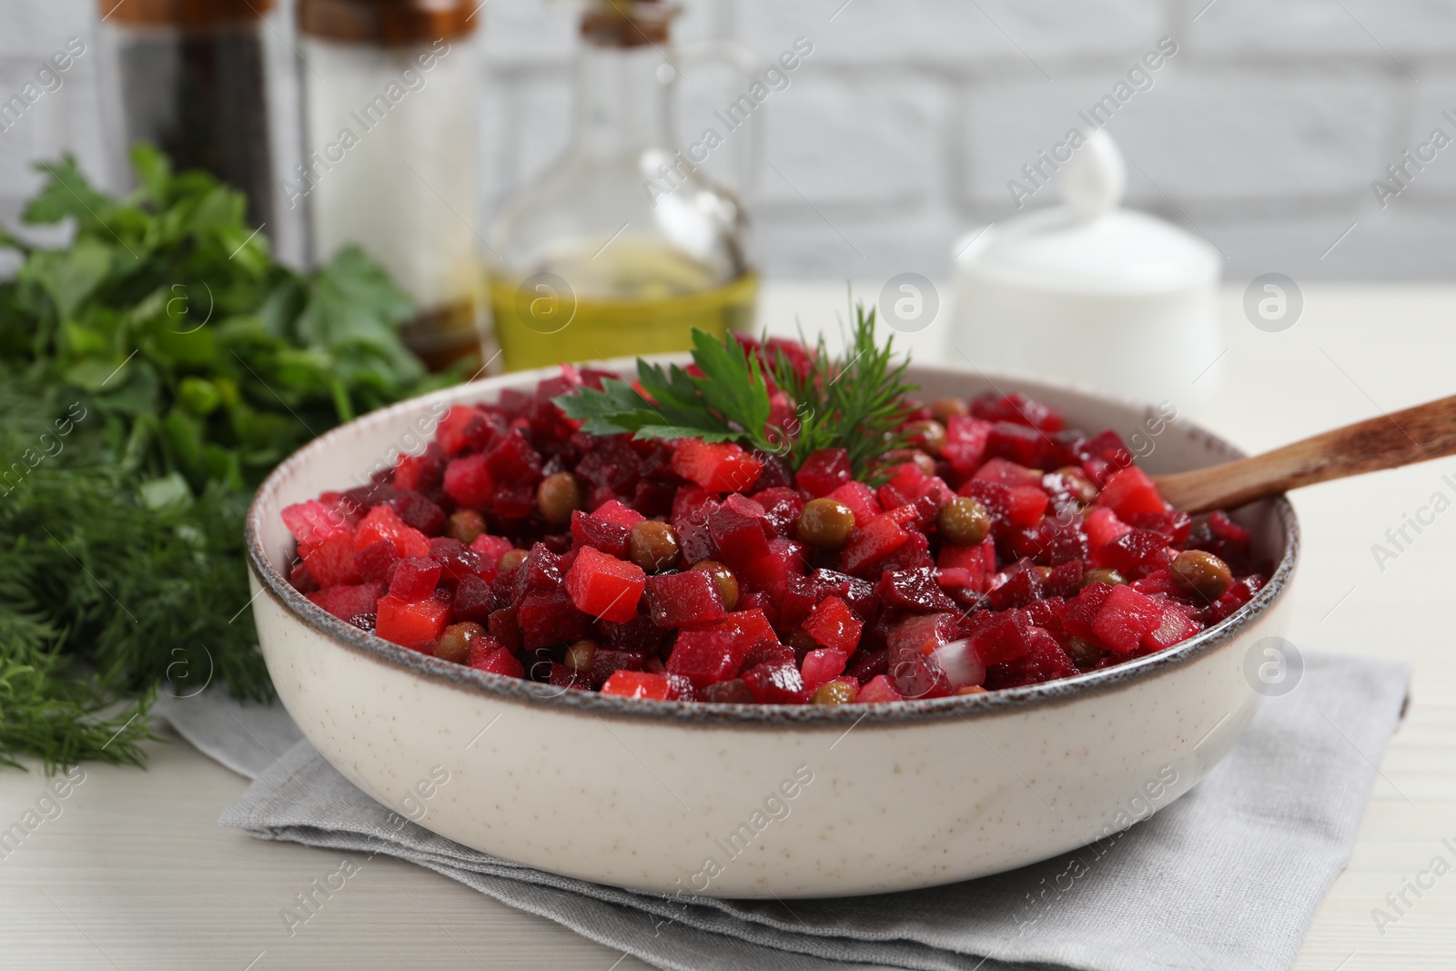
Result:
{"label": "folded light gray linen napkin under the salad bowl", "polygon": [[1404,665],[1306,657],[1297,689],[1264,703],[1223,764],[1131,830],[949,887],[786,903],[681,903],[511,863],[376,802],[281,708],[210,691],[165,699],[162,715],[255,779],[223,825],[397,856],[661,968],[1248,971],[1293,965],[1350,857],[1408,681]]}

